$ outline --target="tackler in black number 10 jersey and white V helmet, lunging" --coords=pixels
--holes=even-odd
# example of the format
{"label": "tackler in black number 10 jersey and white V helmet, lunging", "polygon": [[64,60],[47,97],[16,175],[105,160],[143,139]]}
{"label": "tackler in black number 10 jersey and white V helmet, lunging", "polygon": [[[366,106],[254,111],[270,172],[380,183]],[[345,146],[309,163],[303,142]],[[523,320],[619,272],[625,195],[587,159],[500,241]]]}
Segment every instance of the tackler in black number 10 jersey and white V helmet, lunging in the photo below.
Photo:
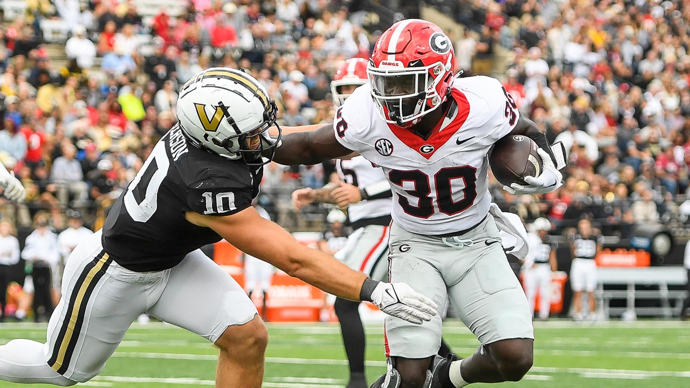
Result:
{"label": "tackler in black number 10 jersey and white V helmet, lunging", "polygon": [[[435,303],[298,243],[251,206],[277,108],[256,79],[229,68],[195,74],[179,92],[179,123],[155,145],[103,229],[79,244],[63,275],[47,343],[0,346],[0,379],[74,385],[96,376],[139,314],[219,347],[219,387],[260,387],[266,327],[242,287],[199,247],[225,238],[325,292],[371,300],[421,324]],[[198,295],[204,295],[199,299]]]}

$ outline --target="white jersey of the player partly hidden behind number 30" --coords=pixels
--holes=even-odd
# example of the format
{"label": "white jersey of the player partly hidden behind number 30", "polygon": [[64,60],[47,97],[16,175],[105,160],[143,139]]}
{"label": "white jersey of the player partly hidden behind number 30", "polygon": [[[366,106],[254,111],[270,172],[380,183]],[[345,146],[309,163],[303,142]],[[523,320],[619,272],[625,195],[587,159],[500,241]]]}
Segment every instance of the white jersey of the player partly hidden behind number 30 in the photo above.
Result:
{"label": "white jersey of the player partly hidden behind number 30", "polygon": [[[384,171],[380,167],[374,167],[364,156],[355,156],[352,159],[338,159],[335,161],[340,180],[355,185],[362,189],[366,185],[386,181]],[[376,218],[391,214],[391,198],[369,199],[351,203],[347,207],[348,217],[351,222],[364,218]]]}

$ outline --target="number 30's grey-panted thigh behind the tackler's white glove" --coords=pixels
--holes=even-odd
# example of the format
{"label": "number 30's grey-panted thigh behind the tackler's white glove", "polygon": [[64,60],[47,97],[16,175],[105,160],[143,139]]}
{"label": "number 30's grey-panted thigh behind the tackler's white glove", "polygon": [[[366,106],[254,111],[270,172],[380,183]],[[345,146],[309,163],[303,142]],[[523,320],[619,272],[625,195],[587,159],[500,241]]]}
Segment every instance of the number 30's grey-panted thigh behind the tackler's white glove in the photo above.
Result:
{"label": "number 30's grey-panted thigh behind the tackler's white glove", "polygon": [[[437,303],[446,304],[446,284],[439,269],[433,265],[437,252],[421,236],[395,227],[391,233],[391,281],[404,282]],[[441,344],[441,316],[436,315],[422,325],[386,317],[388,356],[425,358],[436,354]]]}

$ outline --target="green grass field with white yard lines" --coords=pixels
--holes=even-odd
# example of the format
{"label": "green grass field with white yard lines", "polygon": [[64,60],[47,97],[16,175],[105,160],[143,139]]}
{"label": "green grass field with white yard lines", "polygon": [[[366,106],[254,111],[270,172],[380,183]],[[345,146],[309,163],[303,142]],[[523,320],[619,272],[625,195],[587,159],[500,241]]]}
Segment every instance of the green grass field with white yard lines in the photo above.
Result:
{"label": "green grass field with white yard lines", "polygon": [[[343,387],[347,367],[334,324],[271,324],[264,387]],[[690,323],[535,323],[535,363],[510,387],[690,387]],[[370,382],[385,370],[383,328],[368,325]],[[457,321],[444,333],[460,356],[475,337]],[[0,343],[45,340],[45,326],[0,324]],[[171,325],[133,325],[106,368],[83,385],[95,387],[203,387],[213,385],[217,350],[203,338]],[[81,386],[81,385],[79,385]],[[494,387],[476,384],[471,387]],[[499,385],[500,386],[500,385]],[[24,387],[0,382],[0,387]]]}

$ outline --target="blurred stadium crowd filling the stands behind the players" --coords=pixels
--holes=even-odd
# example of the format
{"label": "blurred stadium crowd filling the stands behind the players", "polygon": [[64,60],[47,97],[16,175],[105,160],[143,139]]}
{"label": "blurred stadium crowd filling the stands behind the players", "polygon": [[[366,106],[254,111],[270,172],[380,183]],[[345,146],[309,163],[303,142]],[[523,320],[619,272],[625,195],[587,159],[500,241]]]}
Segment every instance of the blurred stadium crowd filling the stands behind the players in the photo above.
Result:
{"label": "blurred stadium crowd filling the stands behind the players", "polygon": [[[175,124],[182,84],[212,65],[246,68],[277,101],[283,125],[327,123],[329,86],[350,57],[368,57],[348,1],[195,0],[153,17],[138,1],[34,0],[0,33],[0,161],[25,203],[0,198],[17,228],[68,228],[68,210],[99,228],[157,139]],[[690,221],[690,1],[461,1],[472,24],[455,37],[457,70],[504,81],[520,106],[570,151],[565,184],[494,201],[560,232],[589,213],[603,234]],[[54,65],[41,21],[59,19],[66,65]],[[496,54],[510,52],[506,63]],[[60,54],[62,55],[62,53]],[[500,70],[492,74],[492,69]],[[266,167],[259,203],[288,229],[299,187],[331,179],[332,163]],[[690,197],[688,197],[690,198]],[[327,210],[317,212],[322,221]]]}

